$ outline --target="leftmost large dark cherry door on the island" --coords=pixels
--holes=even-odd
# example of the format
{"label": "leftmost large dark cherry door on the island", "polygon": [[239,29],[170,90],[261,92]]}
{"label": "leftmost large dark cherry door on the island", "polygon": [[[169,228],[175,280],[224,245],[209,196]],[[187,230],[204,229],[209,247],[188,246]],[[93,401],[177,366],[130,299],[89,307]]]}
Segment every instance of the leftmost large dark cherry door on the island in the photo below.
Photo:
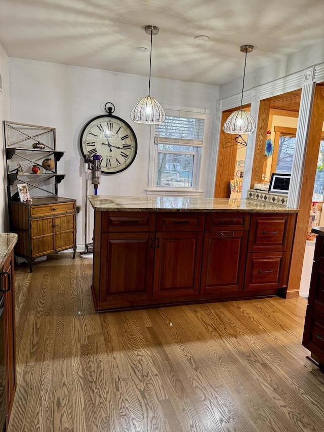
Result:
{"label": "leftmost large dark cherry door on the island", "polygon": [[149,232],[103,233],[100,301],[152,296],[154,237]]}

